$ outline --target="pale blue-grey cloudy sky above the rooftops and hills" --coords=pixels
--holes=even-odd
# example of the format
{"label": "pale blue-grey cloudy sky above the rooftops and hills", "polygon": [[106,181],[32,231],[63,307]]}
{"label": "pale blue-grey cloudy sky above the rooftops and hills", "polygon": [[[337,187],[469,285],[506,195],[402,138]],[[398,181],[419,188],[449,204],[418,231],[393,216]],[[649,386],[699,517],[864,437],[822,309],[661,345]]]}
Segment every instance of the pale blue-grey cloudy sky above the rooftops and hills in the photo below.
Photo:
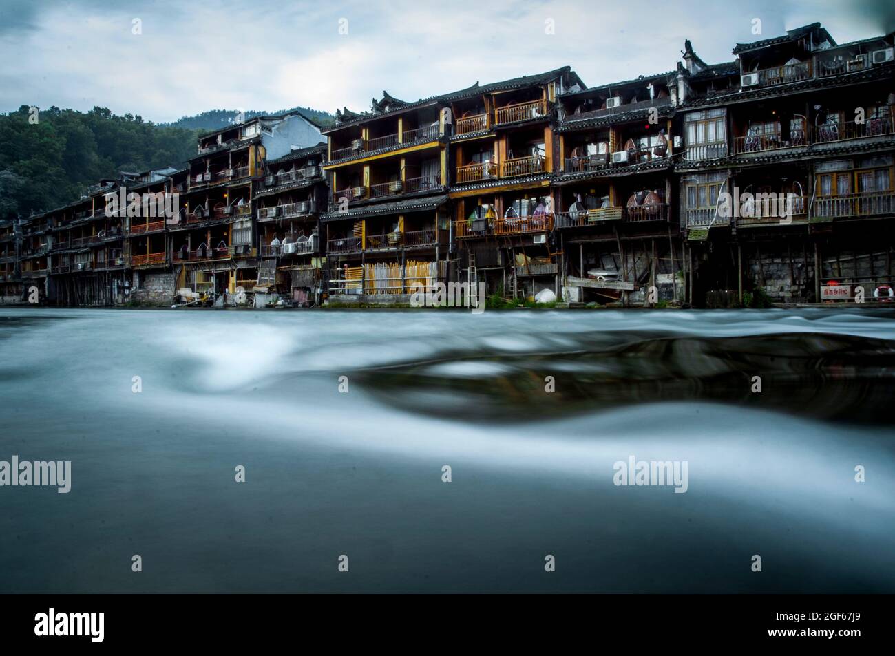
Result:
{"label": "pale blue-grey cloudy sky above the rooftops and hills", "polygon": [[99,105],[166,122],[207,109],[358,110],[382,89],[415,100],[563,65],[594,86],[673,69],[685,38],[714,63],[737,41],[813,21],[840,43],[882,34],[890,4],[0,0],[0,112]]}

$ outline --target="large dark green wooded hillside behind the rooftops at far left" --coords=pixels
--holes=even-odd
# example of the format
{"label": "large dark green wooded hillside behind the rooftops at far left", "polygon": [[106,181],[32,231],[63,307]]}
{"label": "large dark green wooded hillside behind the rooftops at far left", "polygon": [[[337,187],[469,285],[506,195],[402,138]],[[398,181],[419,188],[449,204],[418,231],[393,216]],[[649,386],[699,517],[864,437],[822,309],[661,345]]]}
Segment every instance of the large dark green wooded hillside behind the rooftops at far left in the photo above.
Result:
{"label": "large dark green wooded hillside behind the rooftops at far left", "polygon": [[183,166],[198,132],[139,115],[50,107],[29,122],[29,107],[0,114],[0,219],[55,209],[120,171]]}

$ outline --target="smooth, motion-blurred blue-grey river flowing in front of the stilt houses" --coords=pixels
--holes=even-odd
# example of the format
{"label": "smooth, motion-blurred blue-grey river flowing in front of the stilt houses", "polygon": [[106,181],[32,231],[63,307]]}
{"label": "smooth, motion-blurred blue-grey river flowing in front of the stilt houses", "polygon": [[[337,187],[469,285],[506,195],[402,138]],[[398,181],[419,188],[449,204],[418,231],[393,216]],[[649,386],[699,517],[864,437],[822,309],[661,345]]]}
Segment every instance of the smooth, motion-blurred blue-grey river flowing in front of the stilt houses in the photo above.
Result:
{"label": "smooth, motion-blurred blue-grey river flowing in front of the stilt houses", "polygon": [[895,592],[893,391],[885,310],[0,309],[0,460],[72,462],[0,592]]}

